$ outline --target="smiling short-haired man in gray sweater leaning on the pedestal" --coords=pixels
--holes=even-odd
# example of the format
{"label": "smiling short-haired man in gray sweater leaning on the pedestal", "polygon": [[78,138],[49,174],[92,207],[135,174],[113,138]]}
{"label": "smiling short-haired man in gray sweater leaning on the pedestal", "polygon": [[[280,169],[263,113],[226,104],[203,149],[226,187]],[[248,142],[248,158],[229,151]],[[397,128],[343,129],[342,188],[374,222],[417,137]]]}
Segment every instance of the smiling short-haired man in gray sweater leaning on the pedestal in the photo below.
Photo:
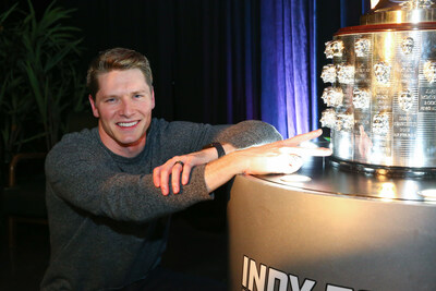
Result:
{"label": "smiling short-haired man in gray sweater leaning on the pedestal", "polygon": [[330,154],[298,147],[320,131],[279,141],[259,121],[152,119],[152,70],[136,51],[100,53],[87,85],[98,126],[65,135],[46,160],[51,257],[43,290],[154,290],[171,213],[213,199],[238,173],[293,172],[301,167],[293,154]]}

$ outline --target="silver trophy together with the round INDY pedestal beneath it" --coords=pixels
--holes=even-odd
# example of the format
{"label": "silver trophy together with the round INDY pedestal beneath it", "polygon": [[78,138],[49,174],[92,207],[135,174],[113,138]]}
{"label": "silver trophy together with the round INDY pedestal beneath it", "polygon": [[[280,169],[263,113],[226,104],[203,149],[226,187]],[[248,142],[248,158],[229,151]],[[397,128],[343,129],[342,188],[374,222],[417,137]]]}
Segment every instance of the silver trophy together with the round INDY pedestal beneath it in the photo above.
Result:
{"label": "silver trophy together with the round INDY pedestal beneath it", "polygon": [[435,16],[382,1],[327,43],[335,156],[235,177],[229,290],[436,290]]}

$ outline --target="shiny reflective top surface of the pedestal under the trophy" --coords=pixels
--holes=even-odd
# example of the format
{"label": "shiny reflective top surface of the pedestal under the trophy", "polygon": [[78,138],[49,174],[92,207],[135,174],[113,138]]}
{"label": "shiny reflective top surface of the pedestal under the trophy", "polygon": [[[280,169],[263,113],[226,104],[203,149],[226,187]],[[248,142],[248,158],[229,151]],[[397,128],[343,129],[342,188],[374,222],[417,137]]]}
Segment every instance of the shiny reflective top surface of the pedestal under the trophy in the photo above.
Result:
{"label": "shiny reflective top surface of the pedestal under the trophy", "polygon": [[[380,172],[382,173],[382,172]],[[346,171],[335,167],[331,158],[308,158],[303,168],[291,175],[256,175],[257,178],[319,194],[340,195],[350,198],[436,204],[434,178],[396,178],[384,174]]]}

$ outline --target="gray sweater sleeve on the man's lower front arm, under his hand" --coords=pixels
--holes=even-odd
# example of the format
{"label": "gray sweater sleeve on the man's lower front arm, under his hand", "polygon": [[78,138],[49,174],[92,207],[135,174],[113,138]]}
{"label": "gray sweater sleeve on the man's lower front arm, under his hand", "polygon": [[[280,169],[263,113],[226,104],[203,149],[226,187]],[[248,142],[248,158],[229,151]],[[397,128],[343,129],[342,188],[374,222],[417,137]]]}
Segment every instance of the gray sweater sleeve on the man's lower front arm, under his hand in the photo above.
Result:
{"label": "gray sweater sleeve on the man's lower front arm, under his hand", "polygon": [[58,155],[51,151],[46,160],[48,189],[58,198],[95,216],[146,222],[213,198],[203,182],[204,166],[192,171],[192,182],[183,186],[181,194],[164,196],[153,184],[152,174],[120,172],[87,155]]}

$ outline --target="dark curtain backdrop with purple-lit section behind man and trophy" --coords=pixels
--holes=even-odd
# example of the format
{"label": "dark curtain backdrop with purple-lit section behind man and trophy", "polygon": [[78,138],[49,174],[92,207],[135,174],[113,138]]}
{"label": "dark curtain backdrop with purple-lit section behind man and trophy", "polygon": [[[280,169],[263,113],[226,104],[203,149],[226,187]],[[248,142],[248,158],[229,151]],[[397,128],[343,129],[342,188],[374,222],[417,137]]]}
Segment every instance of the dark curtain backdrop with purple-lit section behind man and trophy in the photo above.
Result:
{"label": "dark curtain backdrop with purple-lit section behind man and trophy", "polygon": [[[33,2],[41,11],[50,1]],[[71,22],[84,36],[83,71],[110,47],[149,58],[156,117],[215,124],[262,119],[284,137],[319,126],[324,43],[359,24],[368,2],[57,1],[76,10]]]}

